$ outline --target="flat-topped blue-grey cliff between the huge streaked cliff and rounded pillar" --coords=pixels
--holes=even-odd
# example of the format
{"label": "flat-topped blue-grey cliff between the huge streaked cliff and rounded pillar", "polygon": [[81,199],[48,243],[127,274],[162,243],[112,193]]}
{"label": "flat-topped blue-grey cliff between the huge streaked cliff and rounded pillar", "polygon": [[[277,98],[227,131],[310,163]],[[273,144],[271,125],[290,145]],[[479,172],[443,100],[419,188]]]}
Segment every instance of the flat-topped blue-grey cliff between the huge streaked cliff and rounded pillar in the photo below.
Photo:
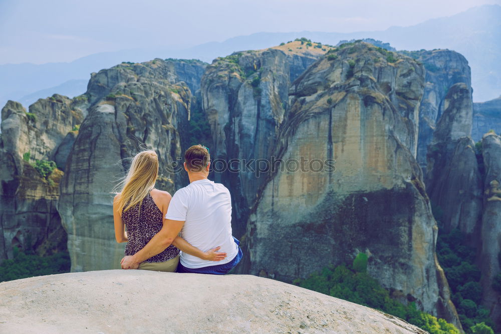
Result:
{"label": "flat-topped blue-grey cliff between the huge streaked cliff and rounded pillar", "polygon": [[471,74],[466,59],[454,51],[423,50],[409,54],[423,63],[426,69],[426,84],[419,109],[417,148],[417,161],[423,172],[426,173],[427,147],[433,139],[437,122],[446,109],[445,96],[449,89],[457,83],[463,83],[471,90]]}

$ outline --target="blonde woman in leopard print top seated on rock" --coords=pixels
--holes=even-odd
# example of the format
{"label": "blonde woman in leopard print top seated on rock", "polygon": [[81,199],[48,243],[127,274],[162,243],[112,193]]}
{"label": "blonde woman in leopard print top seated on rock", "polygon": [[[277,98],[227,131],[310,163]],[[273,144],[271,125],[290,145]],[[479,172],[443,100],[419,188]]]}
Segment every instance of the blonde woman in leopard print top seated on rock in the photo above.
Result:
{"label": "blonde woman in leopard print top seated on rock", "polygon": [[[172,196],[154,188],[157,175],[156,152],[143,151],[134,157],[127,176],[117,186],[122,189],[115,192],[113,200],[115,238],[119,243],[127,242],[125,255],[133,255],[142,249],[163,226],[163,217]],[[202,252],[178,236],[172,245],[142,262],[138,269],[174,272],[179,262],[179,249],[209,261],[226,257],[226,253],[216,253],[219,247]]]}

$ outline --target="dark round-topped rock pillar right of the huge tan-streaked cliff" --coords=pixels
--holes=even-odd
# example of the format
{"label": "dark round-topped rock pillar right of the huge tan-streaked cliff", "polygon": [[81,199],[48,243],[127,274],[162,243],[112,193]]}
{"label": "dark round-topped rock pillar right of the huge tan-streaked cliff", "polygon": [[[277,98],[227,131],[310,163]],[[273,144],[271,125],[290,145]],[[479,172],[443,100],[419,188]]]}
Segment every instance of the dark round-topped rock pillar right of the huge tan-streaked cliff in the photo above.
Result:
{"label": "dark round-topped rock pillar right of the huge tan-streaked cliff", "polygon": [[428,147],[426,192],[442,212],[444,232],[458,228],[477,244],[482,215],[482,176],[471,139],[471,89],[454,84],[444,99],[433,140]]}

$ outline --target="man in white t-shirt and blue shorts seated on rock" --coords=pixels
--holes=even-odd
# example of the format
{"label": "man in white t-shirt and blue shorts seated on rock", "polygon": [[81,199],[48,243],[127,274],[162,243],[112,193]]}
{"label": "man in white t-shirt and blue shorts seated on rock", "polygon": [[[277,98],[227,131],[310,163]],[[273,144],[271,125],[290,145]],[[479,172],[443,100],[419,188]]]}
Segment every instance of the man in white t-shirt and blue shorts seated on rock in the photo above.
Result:
{"label": "man in white t-shirt and blue shorts seated on rock", "polygon": [[167,248],[179,232],[184,240],[202,251],[220,245],[219,251],[227,255],[216,262],[181,252],[177,272],[222,275],[240,262],[242,250],[231,235],[231,197],[226,187],[207,179],[209,166],[206,147],[193,145],[186,150],[184,169],[190,184],[172,196],[160,232],[143,249],[122,259],[123,269],[137,269],[139,263]]}

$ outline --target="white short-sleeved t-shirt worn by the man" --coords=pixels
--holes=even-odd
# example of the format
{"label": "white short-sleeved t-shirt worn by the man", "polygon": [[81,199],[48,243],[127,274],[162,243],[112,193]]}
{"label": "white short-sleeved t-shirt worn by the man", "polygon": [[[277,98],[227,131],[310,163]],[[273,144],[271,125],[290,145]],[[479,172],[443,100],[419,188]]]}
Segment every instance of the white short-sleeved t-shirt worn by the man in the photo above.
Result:
{"label": "white short-sleeved t-shirt worn by the man", "polygon": [[228,263],[238,253],[231,235],[231,197],[220,183],[203,179],[179,189],[172,196],[165,218],[185,221],[181,237],[193,247],[205,252],[221,246],[218,251],[226,252],[221,261],[202,260],[181,252],[181,264],[187,268]]}

